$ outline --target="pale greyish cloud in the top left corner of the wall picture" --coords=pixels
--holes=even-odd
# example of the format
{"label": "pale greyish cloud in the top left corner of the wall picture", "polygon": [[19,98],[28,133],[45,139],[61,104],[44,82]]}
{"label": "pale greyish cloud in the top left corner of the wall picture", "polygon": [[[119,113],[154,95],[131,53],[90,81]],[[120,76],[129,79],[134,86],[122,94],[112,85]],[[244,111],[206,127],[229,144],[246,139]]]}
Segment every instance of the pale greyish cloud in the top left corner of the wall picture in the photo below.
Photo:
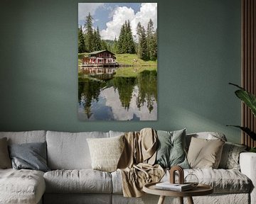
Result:
{"label": "pale greyish cloud in the top left corner of the wall picture", "polygon": [[100,6],[104,6],[104,3],[78,3],[78,21],[85,21],[89,12],[93,16]]}

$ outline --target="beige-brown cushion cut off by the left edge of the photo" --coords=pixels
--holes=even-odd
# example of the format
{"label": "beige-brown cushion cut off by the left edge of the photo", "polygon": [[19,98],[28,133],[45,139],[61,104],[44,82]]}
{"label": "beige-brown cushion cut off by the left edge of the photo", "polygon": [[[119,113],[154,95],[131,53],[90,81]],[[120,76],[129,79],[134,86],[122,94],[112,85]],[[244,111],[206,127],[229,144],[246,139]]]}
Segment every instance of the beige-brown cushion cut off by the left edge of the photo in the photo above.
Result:
{"label": "beige-brown cushion cut off by the left edge of the photo", "polygon": [[11,168],[11,159],[9,157],[7,138],[0,139],[0,169]]}

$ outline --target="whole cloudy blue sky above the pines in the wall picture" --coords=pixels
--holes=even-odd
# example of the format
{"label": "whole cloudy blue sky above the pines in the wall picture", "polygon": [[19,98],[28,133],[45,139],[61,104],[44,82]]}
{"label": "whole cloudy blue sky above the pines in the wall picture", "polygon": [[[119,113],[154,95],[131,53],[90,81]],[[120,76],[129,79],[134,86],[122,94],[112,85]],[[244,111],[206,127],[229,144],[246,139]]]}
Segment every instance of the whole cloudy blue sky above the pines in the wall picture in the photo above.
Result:
{"label": "whole cloudy blue sky above the pines in the wall picture", "polygon": [[119,37],[119,29],[124,21],[129,20],[133,35],[136,35],[137,23],[146,28],[149,19],[157,28],[156,3],[79,3],[78,24],[84,25],[88,13],[92,15],[93,26],[100,28],[102,39],[114,40]]}

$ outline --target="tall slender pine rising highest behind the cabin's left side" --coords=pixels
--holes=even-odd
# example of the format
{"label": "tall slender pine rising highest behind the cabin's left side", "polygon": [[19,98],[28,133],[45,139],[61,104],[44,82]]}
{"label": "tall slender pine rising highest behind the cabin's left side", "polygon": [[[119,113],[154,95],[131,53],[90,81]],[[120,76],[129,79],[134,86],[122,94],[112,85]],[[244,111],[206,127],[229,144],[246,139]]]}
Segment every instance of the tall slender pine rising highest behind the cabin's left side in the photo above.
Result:
{"label": "tall slender pine rising highest behind the cabin's left side", "polygon": [[93,48],[93,28],[92,28],[92,16],[90,13],[86,16],[85,20],[85,45],[87,45],[88,52],[92,52]]}

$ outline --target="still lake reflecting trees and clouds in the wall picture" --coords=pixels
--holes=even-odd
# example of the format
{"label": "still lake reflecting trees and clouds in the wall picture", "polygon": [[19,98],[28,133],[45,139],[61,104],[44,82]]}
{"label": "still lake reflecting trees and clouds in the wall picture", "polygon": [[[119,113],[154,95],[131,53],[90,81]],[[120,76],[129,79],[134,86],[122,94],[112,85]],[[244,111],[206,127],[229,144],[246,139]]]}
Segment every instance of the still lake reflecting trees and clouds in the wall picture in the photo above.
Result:
{"label": "still lake reflecting trees and clouds in the wall picture", "polygon": [[[124,69],[134,72],[118,74]],[[84,67],[78,77],[78,118],[157,120],[156,69]]]}

